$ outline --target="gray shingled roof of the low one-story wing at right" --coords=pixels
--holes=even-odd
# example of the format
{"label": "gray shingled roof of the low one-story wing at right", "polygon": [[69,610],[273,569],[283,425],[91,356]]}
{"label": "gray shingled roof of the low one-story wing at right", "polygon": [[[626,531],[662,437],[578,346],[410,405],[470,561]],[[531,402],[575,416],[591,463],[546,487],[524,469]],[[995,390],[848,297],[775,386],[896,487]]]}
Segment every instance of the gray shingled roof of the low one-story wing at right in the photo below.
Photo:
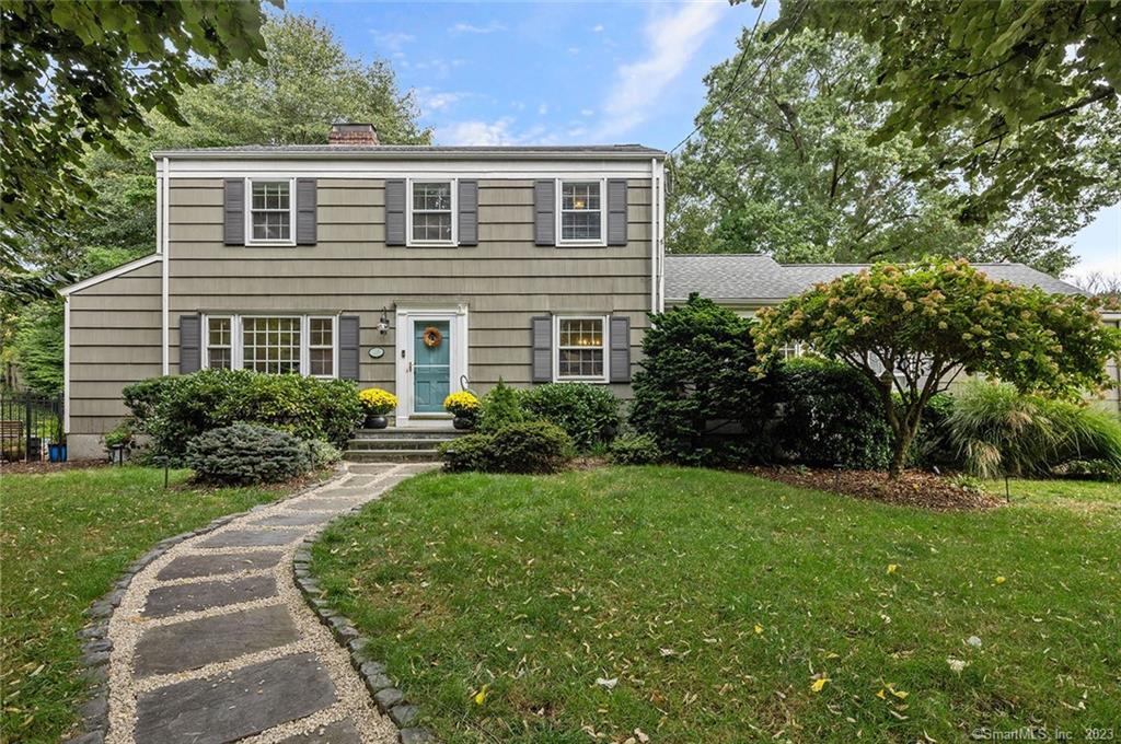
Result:
{"label": "gray shingled roof of the low one-story wing at right", "polygon": [[[717,300],[767,305],[800,294],[817,282],[869,268],[867,263],[778,263],[761,253],[691,253],[666,257],[666,299],[692,292]],[[1082,290],[1022,263],[974,263],[991,279],[1039,287],[1058,295]]]}

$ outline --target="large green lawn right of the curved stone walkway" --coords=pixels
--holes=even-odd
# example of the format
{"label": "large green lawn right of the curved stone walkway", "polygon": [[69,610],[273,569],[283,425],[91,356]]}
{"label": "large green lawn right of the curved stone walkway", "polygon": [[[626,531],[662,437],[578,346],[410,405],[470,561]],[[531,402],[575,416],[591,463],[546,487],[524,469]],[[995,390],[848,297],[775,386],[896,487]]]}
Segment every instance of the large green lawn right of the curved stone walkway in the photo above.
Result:
{"label": "large green lawn right of the curved stone walkway", "polygon": [[446,742],[1081,740],[1121,722],[1121,487],[1029,492],[935,513],[703,469],[430,474],[313,567]]}

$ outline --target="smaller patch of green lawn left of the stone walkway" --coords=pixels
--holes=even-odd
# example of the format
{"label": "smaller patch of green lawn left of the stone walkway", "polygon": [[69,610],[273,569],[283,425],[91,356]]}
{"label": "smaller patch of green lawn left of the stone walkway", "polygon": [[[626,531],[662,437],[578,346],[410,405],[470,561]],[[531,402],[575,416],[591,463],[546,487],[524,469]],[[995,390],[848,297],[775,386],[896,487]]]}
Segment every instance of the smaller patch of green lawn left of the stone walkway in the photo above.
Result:
{"label": "smaller patch of green lawn left of the stone walkway", "polygon": [[82,612],[159,540],[271,501],[277,490],[187,487],[141,467],[0,476],[0,741],[57,742],[85,692]]}

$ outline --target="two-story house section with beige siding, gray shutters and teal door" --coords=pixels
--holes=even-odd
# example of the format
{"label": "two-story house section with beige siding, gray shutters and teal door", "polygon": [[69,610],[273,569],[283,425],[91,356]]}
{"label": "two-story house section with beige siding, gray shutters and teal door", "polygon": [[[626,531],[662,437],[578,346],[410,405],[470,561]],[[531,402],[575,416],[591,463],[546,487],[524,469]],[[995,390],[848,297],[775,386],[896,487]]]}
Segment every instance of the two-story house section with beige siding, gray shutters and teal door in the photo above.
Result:
{"label": "two-story house section with beige siding, gray shutters and teal door", "polygon": [[665,152],[330,143],[155,152],[157,252],[64,290],[66,430],[121,389],[230,368],[397,393],[398,426],[500,378],[628,394],[663,304]]}

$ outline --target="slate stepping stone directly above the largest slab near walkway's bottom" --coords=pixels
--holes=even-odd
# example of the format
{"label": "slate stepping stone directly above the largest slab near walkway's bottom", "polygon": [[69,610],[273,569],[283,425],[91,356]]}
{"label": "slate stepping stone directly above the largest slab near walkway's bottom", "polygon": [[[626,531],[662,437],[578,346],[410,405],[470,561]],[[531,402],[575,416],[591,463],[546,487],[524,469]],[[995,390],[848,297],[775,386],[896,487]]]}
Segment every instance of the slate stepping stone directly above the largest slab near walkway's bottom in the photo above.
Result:
{"label": "slate stepping stone directly above the largest slab near walkway's bottom", "polygon": [[150,627],[136,649],[136,673],[169,675],[265,651],[299,638],[284,606],[242,610]]}

